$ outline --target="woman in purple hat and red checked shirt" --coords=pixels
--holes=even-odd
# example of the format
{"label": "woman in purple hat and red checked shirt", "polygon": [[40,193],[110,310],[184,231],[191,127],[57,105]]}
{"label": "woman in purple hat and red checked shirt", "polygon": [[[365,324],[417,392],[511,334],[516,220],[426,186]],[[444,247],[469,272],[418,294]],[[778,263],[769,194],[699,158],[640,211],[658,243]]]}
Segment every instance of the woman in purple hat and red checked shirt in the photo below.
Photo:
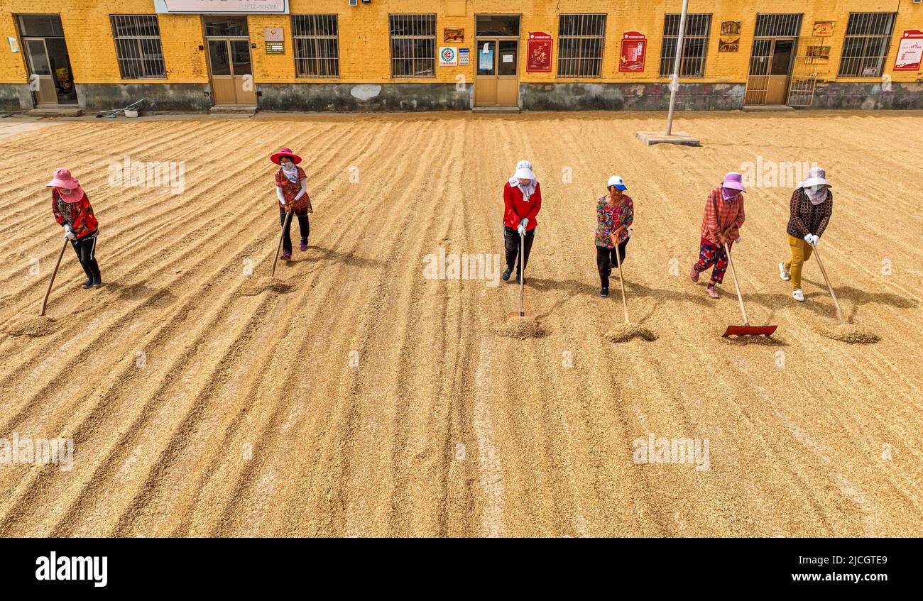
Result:
{"label": "woman in purple hat and red checked shirt", "polygon": [[699,260],[692,264],[693,282],[699,281],[699,274],[714,265],[712,278],[708,283],[708,295],[718,298],[715,284],[725,279],[727,269],[727,250],[740,239],[740,226],[744,224],[744,197],[746,192],[740,173],[730,172],[720,186],[708,194],[705,201],[705,214],[701,218],[701,243]]}

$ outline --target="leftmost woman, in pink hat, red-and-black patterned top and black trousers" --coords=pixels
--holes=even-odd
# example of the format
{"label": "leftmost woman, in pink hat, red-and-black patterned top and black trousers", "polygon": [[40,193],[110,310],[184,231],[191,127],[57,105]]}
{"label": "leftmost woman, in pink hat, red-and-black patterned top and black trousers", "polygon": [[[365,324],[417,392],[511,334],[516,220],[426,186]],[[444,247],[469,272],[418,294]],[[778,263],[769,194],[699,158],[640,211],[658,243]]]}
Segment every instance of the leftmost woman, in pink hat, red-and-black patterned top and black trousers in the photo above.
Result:
{"label": "leftmost woman, in pink hat, red-and-black patterned top and black trousers", "polygon": [[87,275],[83,288],[102,286],[100,265],[96,262],[96,237],[99,222],[93,215],[90,199],[70,171],[54,170],[54,178],[47,184],[52,189],[52,213],[54,220],[64,226],[64,237],[70,241],[77,253],[80,266]]}

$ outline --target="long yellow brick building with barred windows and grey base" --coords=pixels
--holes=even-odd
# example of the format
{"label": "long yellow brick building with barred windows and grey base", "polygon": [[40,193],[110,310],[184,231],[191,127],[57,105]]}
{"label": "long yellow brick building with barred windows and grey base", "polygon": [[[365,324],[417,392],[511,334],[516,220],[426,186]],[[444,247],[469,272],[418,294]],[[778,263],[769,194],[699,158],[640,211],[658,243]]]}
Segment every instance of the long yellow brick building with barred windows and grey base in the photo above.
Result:
{"label": "long yellow brick building with barred windows and grey base", "polygon": [[[0,109],[663,109],[681,4],[0,0]],[[914,0],[690,0],[678,105],[923,108],[920,30]]]}

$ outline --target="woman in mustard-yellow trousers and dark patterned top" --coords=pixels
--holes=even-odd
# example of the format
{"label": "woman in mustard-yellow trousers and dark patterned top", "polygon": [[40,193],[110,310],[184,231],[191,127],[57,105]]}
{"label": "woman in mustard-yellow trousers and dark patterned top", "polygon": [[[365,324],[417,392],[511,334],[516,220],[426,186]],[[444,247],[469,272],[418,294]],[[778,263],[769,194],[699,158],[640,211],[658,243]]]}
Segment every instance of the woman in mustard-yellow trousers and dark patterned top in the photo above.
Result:
{"label": "woman in mustard-yellow trousers and dark patterned top", "polygon": [[800,183],[788,204],[788,248],[791,256],[779,264],[779,277],[792,282],[792,298],[804,302],[801,291],[801,267],[821,240],[833,214],[832,184],[820,167],[808,171],[808,179]]}

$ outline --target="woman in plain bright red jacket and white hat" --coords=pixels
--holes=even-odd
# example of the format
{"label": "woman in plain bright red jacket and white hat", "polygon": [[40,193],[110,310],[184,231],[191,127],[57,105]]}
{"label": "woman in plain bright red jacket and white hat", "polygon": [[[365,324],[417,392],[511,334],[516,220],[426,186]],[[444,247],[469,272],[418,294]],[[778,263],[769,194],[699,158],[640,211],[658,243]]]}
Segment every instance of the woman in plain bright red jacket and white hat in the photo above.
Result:
{"label": "woman in plain bright red jacket and white hat", "polygon": [[[520,267],[522,271],[529,265],[529,253],[535,238],[535,216],[542,209],[542,189],[535,180],[532,163],[521,160],[516,165],[516,173],[503,186],[503,243],[507,253],[507,268],[503,272],[503,281],[509,281],[509,275],[516,269],[516,283],[519,283]],[[520,255],[520,236],[525,237],[524,253]],[[515,265],[515,266],[514,266]]]}

